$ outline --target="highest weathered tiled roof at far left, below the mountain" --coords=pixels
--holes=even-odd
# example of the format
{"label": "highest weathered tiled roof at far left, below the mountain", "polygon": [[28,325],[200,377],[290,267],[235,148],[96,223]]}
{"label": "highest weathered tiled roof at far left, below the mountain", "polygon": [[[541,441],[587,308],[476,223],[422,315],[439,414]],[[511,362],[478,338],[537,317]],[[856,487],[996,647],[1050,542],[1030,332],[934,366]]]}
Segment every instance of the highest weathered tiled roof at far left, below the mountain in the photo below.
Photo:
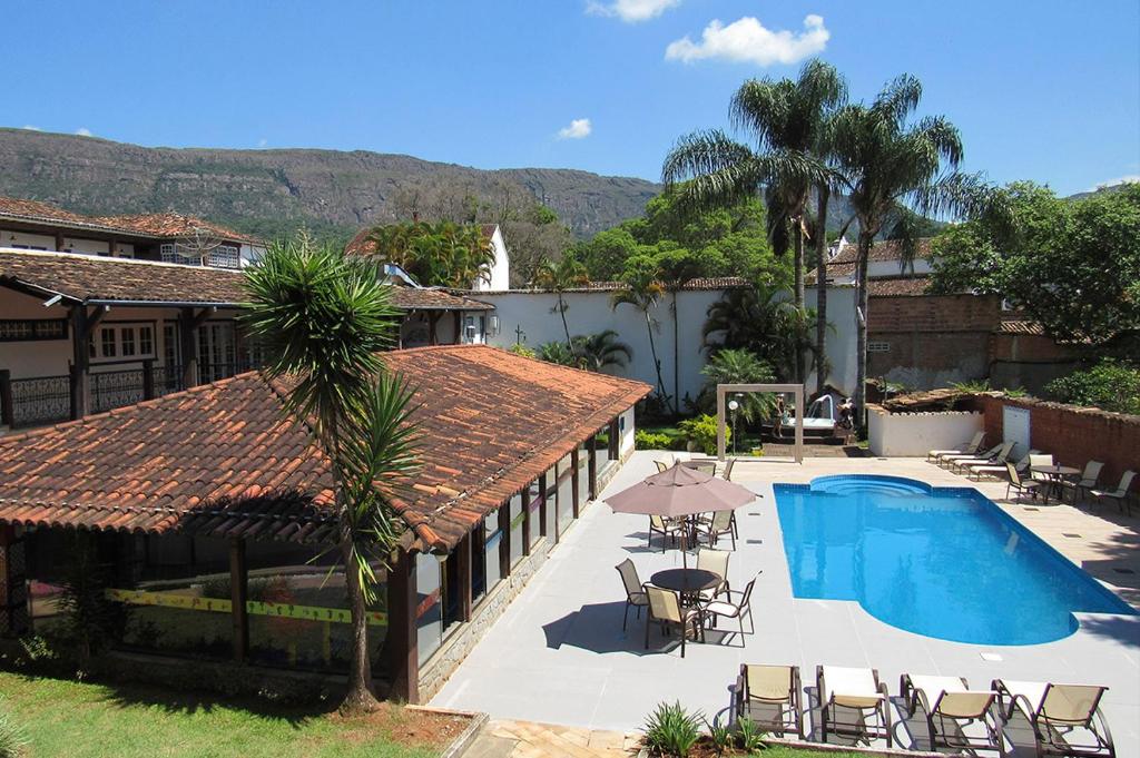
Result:
{"label": "highest weathered tiled roof at far left, below the mountain", "polygon": [[91,229],[104,234],[123,234],[133,237],[174,239],[192,236],[196,229],[229,242],[263,244],[256,237],[243,235],[223,226],[180,213],[146,213],[141,215],[82,215],[39,201],[0,196],[0,218],[32,223],[58,225]]}

